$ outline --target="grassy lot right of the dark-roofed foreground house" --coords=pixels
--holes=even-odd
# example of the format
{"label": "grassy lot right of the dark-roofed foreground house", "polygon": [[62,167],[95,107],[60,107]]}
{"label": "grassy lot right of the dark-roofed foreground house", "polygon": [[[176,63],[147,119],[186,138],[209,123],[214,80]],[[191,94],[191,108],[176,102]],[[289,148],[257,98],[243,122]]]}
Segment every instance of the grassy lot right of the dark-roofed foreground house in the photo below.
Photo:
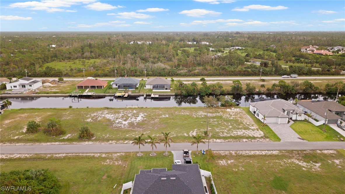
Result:
{"label": "grassy lot right of the dark-roofed foreground house", "polygon": [[218,151],[206,159],[193,162],[212,173],[218,194],[344,192],[345,159],[336,150]]}

